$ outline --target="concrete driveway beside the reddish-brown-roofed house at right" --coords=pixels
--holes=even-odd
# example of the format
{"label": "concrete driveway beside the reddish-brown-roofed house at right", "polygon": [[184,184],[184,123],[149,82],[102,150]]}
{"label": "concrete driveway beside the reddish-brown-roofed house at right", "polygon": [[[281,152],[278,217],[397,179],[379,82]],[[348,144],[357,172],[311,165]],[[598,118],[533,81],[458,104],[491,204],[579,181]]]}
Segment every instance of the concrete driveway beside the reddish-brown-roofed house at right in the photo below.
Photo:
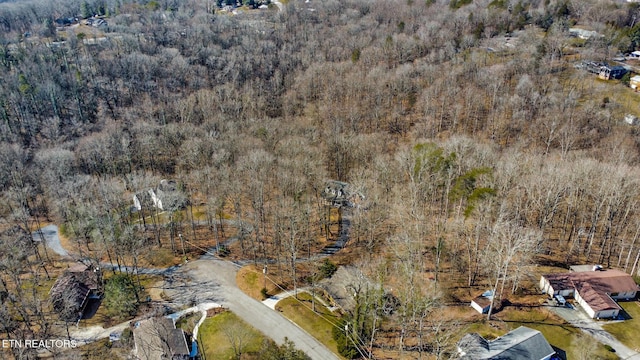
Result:
{"label": "concrete driveway beside the reddish-brown-roofed house at right", "polygon": [[609,345],[616,350],[616,355],[621,359],[640,360],[640,353],[629,349],[623,343],[605,331],[600,324],[590,318],[580,308],[570,309],[566,307],[550,306],[549,309],[566,320],[571,325],[593,336],[597,341]]}

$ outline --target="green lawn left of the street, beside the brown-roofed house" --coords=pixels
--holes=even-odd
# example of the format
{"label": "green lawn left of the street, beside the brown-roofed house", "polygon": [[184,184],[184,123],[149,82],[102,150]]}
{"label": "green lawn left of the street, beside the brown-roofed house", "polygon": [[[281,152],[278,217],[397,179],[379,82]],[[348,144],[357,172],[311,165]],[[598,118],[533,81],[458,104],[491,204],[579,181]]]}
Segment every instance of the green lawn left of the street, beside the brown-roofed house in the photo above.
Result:
{"label": "green lawn left of the street, beside the brown-roofed house", "polygon": [[202,323],[198,330],[198,344],[203,359],[235,359],[236,349],[242,354],[256,353],[266,337],[230,311],[223,312]]}

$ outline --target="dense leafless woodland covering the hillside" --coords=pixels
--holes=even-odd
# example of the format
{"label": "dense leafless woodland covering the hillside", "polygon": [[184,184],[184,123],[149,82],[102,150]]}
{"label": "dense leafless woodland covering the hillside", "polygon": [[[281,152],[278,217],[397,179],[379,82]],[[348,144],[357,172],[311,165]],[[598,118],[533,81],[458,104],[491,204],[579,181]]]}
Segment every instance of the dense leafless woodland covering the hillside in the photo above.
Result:
{"label": "dense leafless woodland covering the hillside", "polygon": [[[636,95],[573,68],[635,50],[637,4],[217,5],[0,4],[6,336],[51,331],[46,300],[24,286],[52,267],[30,235],[39,224],[61,225],[84,256],[137,266],[160,246],[179,252],[174,227],[223,240],[216,221],[236,219],[252,230],[238,231],[243,258],[291,267],[332,240],[327,179],[367,199],[347,245],[378,284],[351,315],[361,351],[445,357],[430,316],[442,278],[508,297],[536,264],[640,271],[640,137],[622,123],[640,115]],[[108,26],[56,29],[94,14]],[[571,37],[576,25],[602,36]],[[180,184],[189,211],[145,231],[132,194],[160,179]]]}

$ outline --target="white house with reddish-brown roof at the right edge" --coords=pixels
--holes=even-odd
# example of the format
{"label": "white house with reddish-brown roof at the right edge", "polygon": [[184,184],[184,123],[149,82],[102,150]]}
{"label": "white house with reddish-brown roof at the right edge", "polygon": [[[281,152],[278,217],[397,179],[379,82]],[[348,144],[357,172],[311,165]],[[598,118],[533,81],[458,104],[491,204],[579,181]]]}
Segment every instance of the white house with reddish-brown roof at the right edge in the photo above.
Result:
{"label": "white house with reddish-brown roof at the right edge", "polygon": [[540,289],[550,296],[573,296],[594,319],[615,318],[621,310],[616,300],[634,299],[638,285],[623,271],[592,269],[543,275],[540,277]]}

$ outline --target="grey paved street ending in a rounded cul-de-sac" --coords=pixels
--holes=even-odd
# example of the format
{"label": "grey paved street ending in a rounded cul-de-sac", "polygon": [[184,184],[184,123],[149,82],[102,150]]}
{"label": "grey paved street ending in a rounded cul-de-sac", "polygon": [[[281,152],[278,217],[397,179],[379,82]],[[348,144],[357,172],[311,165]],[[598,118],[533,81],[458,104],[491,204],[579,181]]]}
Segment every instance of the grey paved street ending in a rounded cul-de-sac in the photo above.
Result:
{"label": "grey paved street ending in a rounded cul-de-sac", "polygon": [[[268,309],[236,286],[237,267],[229,262],[205,258],[189,262],[175,273],[165,293],[177,302],[198,302],[214,298],[222,306],[279,344],[287,337],[296,348],[315,360],[339,359],[313,336],[280,313]],[[191,295],[190,295],[191,294]]]}

